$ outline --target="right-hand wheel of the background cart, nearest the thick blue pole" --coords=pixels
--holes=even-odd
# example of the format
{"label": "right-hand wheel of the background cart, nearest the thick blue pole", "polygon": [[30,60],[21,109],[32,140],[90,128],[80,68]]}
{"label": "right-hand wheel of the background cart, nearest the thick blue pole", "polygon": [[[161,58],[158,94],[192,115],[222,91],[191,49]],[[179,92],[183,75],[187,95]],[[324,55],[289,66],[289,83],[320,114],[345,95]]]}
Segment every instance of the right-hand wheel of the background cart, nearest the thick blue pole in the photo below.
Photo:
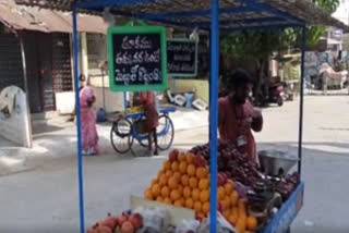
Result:
{"label": "right-hand wheel of the background cart, nearest the thick blue pole", "polygon": [[172,146],[174,139],[174,126],[172,120],[168,115],[159,118],[157,132],[157,148],[167,150]]}

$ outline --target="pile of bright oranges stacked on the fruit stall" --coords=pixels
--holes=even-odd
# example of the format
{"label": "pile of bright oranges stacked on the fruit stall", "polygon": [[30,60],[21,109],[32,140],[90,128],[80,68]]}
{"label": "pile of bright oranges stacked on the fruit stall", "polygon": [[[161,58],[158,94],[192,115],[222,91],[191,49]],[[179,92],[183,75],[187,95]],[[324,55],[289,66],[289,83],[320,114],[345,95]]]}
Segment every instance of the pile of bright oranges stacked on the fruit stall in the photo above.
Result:
{"label": "pile of bright oranges stacked on the fruit stall", "polygon": [[[157,177],[144,192],[148,200],[195,210],[197,219],[209,212],[209,170],[207,165],[197,167],[195,155],[180,152],[176,159],[164,162]],[[257,221],[246,213],[246,203],[239,198],[234,183],[228,180],[217,191],[218,207],[224,217],[239,233],[254,231]]]}

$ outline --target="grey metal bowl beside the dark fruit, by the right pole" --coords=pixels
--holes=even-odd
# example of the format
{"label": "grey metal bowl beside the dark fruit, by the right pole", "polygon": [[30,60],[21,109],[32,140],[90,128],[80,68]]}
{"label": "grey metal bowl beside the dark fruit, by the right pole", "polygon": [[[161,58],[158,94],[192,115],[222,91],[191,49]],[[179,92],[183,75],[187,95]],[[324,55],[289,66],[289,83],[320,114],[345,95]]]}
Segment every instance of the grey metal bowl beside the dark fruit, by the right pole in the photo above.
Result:
{"label": "grey metal bowl beside the dark fruit, by the right pole", "polygon": [[269,176],[284,176],[298,162],[298,158],[279,150],[258,151],[261,172]]}

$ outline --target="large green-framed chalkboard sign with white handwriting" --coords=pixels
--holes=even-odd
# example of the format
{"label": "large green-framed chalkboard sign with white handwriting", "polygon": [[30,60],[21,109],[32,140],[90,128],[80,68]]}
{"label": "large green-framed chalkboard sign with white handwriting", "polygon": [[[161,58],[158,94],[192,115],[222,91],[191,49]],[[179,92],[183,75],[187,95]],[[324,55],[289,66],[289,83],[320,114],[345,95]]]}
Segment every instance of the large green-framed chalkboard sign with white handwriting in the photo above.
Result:
{"label": "large green-framed chalkboard sign with white handwriting", "polygon": [[165,90],[167,79],[166,29],[140,23],[108,29],[108,64],[112,91]]}

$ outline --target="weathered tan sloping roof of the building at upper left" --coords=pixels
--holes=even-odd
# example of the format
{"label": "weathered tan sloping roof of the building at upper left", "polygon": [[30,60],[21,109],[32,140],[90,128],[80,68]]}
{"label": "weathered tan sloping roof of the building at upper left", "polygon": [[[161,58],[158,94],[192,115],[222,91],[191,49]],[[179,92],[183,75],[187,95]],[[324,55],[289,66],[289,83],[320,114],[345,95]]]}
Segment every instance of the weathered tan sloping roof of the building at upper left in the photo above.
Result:
{"label": "weathered tan sloping roof of the building at upper left", "polygon": [[[79,30],[101,33],[107,30],[107,24],[100,16],[79,15]],[[72,16],[69,12],[56,12],[37,7],[24,7],[13,0],[0,0],[0,22],[14,30],[37,30],[43,33],[72,33]]]}

